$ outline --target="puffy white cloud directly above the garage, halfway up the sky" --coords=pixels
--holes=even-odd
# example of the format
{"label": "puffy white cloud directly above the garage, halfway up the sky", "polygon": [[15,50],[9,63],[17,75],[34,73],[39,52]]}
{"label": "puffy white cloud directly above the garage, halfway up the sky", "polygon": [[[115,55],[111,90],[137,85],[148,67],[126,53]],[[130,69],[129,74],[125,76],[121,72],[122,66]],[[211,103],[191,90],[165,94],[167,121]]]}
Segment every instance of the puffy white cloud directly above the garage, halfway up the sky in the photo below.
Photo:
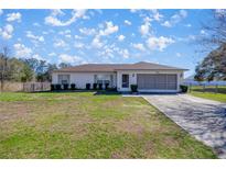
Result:
{"label": "puffy white cloud directly above the garage, halfway up the sky", "polygon": [[152,50],[160,50],[162,52],[165,47],[173,44],[174,40],[160,36],[160,37],[149,37],[147,40],[147,46]]}

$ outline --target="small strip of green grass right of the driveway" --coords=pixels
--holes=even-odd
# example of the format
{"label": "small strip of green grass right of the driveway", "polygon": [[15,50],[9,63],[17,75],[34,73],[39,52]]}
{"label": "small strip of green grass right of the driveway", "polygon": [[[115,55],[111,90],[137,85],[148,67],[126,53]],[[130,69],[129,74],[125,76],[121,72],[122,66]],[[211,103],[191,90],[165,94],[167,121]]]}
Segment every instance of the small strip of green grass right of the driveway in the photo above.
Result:
{"label": "small strip of green grass right of the driveway", "polygon": [[[205,92],[204,92],[205,91]],[[204,99],[226,102],[226,87],[218,87],[217,92],[215,87],[192,87],[191,94]]]}

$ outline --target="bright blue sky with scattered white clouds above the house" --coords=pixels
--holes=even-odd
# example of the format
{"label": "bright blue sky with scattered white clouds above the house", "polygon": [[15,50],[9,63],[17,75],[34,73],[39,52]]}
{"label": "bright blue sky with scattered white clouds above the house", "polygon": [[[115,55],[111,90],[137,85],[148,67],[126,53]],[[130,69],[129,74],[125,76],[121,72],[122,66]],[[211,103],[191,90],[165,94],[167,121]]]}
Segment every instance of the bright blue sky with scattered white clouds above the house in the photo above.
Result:
{"label": "bright blue sky with scattered white clouds above the house", "polygon": [[190,69],[212,10],[0,10],[0,42],[50,63],[152,61]]}

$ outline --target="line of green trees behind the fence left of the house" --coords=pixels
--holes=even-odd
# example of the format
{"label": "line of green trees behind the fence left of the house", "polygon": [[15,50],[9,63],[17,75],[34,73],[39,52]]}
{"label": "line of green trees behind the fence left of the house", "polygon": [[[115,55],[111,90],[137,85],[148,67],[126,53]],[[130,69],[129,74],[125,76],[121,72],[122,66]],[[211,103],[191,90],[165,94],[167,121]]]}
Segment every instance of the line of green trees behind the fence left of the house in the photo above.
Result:
{"label": "line of green trees behind the fence left of the house", "polygon": [[51,81],[51,74],[58,68],[69,67],[69,64],[50,64],[36,58],[15,58],[10,56],[8,46],[0,48],[0,84],[1,91],[6,81],[29,82]]}

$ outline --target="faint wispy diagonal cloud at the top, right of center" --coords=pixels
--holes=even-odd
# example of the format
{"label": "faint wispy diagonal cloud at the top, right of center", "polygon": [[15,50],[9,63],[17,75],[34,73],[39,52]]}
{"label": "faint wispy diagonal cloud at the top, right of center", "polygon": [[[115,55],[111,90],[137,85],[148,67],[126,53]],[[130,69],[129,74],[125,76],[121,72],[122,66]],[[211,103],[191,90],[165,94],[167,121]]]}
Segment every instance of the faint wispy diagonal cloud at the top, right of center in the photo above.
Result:
{"label": "faint wispy diagonal cloud at the top, right of center", "polygon": [[183,19],[187,16],[187,12],[185,10],[180,10],[174,15],[170,18],[170,21],[164,21],[161,25],[166,27],[172,27],[176,23],[181,22]]}

